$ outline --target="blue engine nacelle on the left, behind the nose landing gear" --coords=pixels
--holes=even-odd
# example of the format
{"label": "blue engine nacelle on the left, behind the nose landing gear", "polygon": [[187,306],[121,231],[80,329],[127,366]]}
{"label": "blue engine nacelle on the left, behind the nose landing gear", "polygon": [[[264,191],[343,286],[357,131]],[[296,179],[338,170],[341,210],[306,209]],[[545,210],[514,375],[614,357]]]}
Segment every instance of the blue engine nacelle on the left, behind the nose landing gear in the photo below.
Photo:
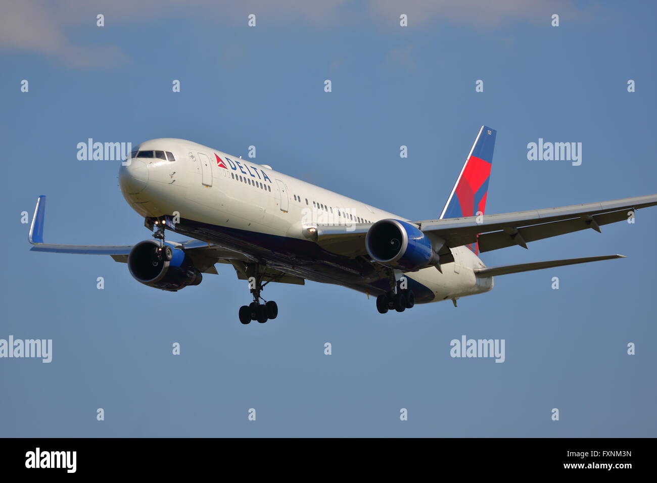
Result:
{"label": "blue engine nacelle on the left, behind the nose landing gear", "polygon": [[171,246],[171,260],[166,261],[161,254],[158,256],[158,248],[160,242],[155,240],[145,240],[132,247],[127,267],[136,281],[173,292],[201,283],[203,276],[185,250]]}

